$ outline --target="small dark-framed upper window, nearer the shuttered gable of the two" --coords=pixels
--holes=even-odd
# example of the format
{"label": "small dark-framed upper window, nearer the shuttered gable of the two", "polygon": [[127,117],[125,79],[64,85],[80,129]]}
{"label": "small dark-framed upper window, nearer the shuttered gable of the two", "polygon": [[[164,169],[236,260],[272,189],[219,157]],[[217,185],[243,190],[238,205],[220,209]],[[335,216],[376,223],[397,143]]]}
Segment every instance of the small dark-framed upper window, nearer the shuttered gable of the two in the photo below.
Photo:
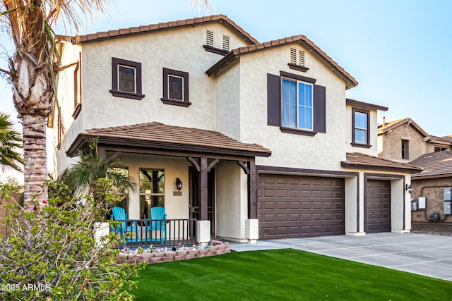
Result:
{"label": "small dark-framed upper window, nearer the shuttered gable of the two", "polygon": [[189,73],[163,68],[163,97],[164,104],[189,106]]}

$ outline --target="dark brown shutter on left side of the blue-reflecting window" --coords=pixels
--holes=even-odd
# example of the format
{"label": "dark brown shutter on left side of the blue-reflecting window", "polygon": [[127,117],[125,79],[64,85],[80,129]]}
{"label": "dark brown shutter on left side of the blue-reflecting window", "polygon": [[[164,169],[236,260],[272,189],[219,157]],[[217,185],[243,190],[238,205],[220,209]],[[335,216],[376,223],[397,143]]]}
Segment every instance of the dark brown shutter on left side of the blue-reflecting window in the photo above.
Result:
{"label": "dark brown shutter on left side of the blue-reflecting window", "polygon": [[281,78],[267,73],[267,124],[281,125]]}

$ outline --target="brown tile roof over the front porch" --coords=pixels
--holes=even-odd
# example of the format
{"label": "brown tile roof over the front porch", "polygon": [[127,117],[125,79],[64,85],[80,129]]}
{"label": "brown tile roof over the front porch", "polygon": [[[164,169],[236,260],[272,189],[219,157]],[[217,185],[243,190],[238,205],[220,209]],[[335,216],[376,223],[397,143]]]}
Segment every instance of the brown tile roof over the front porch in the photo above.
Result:
{"label": "brown tile roof over the front porch", "polygon": [[235,156],[270,156],[261,145],[243,143],[213,130],[185,128],[163,123],[141,123],[110,128],[93,128],[78,135],[67,154],[73,156],[85,142],[99,137],[103,145],[142,147],[177,152],[204,152]]}

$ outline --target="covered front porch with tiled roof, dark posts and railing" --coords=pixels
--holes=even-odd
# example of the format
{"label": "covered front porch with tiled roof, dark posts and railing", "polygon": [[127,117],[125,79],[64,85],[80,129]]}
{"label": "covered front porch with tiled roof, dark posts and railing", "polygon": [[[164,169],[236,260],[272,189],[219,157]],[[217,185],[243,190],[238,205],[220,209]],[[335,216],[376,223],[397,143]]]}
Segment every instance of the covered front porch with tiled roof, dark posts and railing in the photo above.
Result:
{"label": "covered front porch with tiled roof, dark posts and railing", "polygon": [[[211,238],[258,238],[256,156],[270,156],[260,145],[246,144],[211,130],[145,123],[87,130],[67,152],[97,137],[101,156],[118,155],[138,189],[117,204],[127,216],[121,227],[136,246],[190,245]],[[165,219],[150,216],[162,207]],[[152,223],[161,223],[156,229]],[[129,236],[129,238],[127,238]]]}

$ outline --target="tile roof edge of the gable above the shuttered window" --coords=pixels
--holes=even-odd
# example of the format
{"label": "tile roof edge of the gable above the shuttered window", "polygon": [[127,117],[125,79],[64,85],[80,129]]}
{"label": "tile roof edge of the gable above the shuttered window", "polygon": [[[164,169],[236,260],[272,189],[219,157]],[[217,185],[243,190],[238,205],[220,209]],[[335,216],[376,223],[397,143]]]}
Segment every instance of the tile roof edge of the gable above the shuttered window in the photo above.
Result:
{"label": "tile roof edge of the gable above the shuttered window", "polygon": [[333,61],[333,59],[331,59],[330,56],[328,56],[322,49],[320,49],[320,47],[311,42],[311,40],[305,37],[304,35],[294,35],[292,37],[286,37],[283,39],[274,39],[268,42],[232,49],[230,54],[220,59],[220,61],[218,61],[217,63],[215,63],[215,65],[210,67],[206,71],[206,73],[208,76],[213,75],[218,71],[222,70],[222,68],[225,68],[225,66],[234,61],[234,59],[237,59],[237,57],[242,56],[244,54],[249,54],[254,51],[261,51],[272,47],[278,47],[292,43],[304,44],[304,46],[311,49],[314,52],[314,54],[319,56],[319,58],[321,58],[325,63],[331,66],[333,70],[335,70],[342,78],[344,78],[347,81],[348,83],[347,89],[358,85],[357,80],[355,80],[355,78],[353,78],[352,75],[350,75],[350,73],[347,73],[347,71],[345,71],[341,66],[339,66],[338,63]]}

